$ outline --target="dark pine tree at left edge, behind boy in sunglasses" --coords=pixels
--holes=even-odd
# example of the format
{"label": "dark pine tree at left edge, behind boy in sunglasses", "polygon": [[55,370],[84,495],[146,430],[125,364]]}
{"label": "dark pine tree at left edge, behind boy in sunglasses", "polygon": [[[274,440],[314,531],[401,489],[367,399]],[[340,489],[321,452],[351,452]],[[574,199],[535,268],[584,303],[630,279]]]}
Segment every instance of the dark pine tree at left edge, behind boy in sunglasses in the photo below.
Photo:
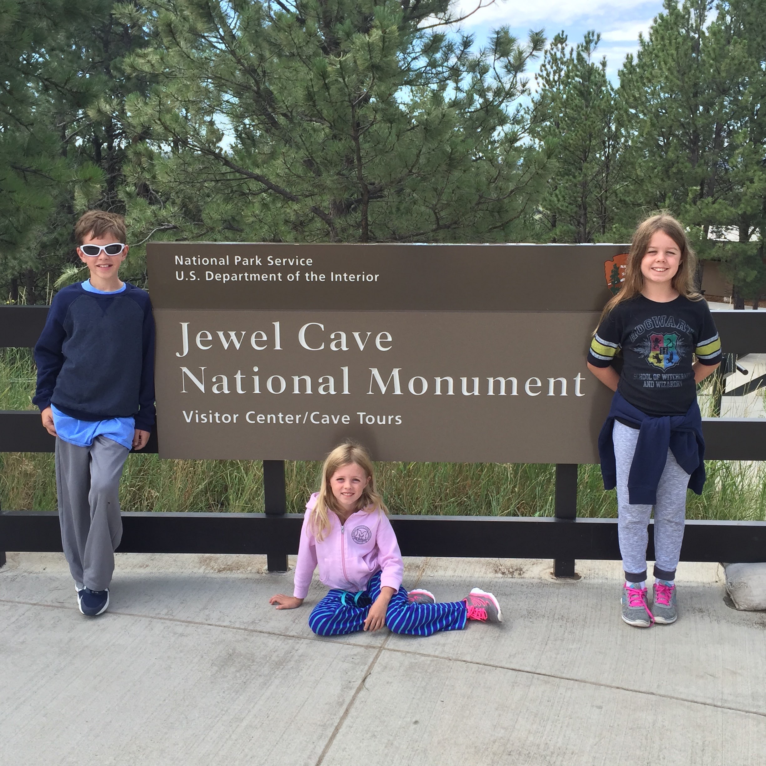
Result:
{"label": "dark pine tree at left edge, behind boy in sunglasses", "polygon": [[[0,0],[7,2],[7,0]],[[110,0],[18,2],[2,18],[2,65],[14,87],[0,91],[0,284],[12,301],[41,302],[67,264],[79,264],[74,222],[87,208],[123,212],[129,142],[119,120],[125,97],[148,83],[126,77],[122,58],[146,44],[133,5]],[[119,18],[113,10],[123,11]],[[0,32],[2,34],[2,32]],[[5,98],[5,102],[3,99]],[[95,110],[110,101],[110,113]],[[20,295],[21,293],[21,295]]]}

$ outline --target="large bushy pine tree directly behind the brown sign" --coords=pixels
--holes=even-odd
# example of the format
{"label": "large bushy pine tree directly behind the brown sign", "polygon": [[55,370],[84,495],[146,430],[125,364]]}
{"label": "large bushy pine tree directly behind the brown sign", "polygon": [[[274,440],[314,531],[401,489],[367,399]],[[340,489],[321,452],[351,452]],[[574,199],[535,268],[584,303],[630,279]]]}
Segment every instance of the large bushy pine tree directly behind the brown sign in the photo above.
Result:
{"label": "large bushy pine tree directly behind the brown sign", "polygon": [[[163,0],[129,71],[131,221],[244,241],[506,241],[545,153],[514,102],[542,50],[473,52],[448,0]],[[139,224],[139,221],[143,221]],[[162,234],[155,234],[162,236]]]}

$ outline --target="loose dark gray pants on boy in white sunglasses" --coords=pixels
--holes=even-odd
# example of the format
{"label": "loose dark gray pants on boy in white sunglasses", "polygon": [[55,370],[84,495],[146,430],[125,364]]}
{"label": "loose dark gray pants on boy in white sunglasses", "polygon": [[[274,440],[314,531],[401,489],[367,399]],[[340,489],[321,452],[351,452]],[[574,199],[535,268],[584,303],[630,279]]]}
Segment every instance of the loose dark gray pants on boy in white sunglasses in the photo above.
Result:
{"label": "loose dark gray pants on boy in white sunglasses", "polygon": [[122,444],[97,436],[90,447],[56,439],[56,489],[61,542],[77,584],[109,587],[114,549],[123,536],[119,477],[128,457]]}

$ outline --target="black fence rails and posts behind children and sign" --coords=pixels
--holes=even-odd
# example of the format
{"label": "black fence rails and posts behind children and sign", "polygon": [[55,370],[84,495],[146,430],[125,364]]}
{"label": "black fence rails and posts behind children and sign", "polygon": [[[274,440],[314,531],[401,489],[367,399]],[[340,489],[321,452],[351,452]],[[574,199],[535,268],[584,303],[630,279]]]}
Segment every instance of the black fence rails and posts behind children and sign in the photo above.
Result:
{"label": "black fence rails and posts behind children and sign", "polygon": [[[37,341],[47,306],[0,306],[0,347]],[[736,355],[766,352],[766,312],[715,313],[722,344]],[[766,460],[766,420],[706,418],[706,457]],[[35,411],[0,411],[0,452],[52,452]],[[156,452],[152,434],[145,452]],[[576,519],[578,466],[556,466],[555,518],[394,516],[403,555],[552,558],[558,577],[575,560],[620,558],[615,519]],[[284,463],[264,460],[265,513],[123,513],[120,552],[266,554],[271,571],[298,550],[301,517],[286,514]],[[653,528],[650,550],[653,558]],[[0,552],[61,551],[54,512],[0,512]],[[687,522],[683,561],[764,561],[766,522]],[[0,566],[5,555],[0,553]]]}

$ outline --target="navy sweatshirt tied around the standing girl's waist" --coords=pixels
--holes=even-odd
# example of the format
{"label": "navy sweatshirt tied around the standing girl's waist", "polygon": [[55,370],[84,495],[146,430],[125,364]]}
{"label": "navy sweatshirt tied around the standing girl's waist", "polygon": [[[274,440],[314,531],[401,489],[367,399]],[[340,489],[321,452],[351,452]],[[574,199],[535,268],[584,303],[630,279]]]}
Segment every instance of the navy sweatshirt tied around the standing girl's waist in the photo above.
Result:
{"label": "navy sweatshirt tied around the standing girl's waist", "polygon": [[630,505],[653,506],[657,502],[657,485],[665,470],[668,448],[679,466],[689,473],[689,489],[702,493],[705,484],[705,440],[702,438],[702,414],[697,400],[684,415],[652,417],[626,401],[617,391],[598,436],[601,476],[604,489],[617,486],[617,466],[614,459],[612,428],[615,418],[637,426],[638,442],[627,480]]}

